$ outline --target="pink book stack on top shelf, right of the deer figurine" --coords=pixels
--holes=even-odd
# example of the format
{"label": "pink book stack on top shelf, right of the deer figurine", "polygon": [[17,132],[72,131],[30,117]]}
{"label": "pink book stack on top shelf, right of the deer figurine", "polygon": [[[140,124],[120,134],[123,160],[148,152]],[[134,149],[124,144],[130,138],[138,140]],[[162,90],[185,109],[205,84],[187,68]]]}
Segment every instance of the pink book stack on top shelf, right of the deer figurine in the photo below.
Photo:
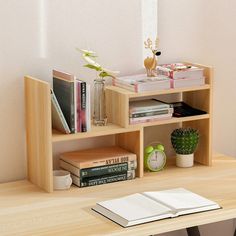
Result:
{"label": "pink book stack on top shelf, right of the deer figurine", "polygon": [[205,84],[203,68],[183,63],[157,66],[157,73],[168,76],[171,79],[171,88],[193,87]]}

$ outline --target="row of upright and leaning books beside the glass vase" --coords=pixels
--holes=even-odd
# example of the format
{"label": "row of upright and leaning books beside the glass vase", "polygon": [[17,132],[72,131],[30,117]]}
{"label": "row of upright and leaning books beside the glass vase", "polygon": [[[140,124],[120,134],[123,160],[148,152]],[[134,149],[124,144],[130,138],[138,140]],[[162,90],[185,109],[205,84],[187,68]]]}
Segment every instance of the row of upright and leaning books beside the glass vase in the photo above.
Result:
{"label": "row of upright and leaning books beside the glass vase", "polygon": [[72,74],[53,70],[52,126],[63,133],[91,128],[90,85]]}

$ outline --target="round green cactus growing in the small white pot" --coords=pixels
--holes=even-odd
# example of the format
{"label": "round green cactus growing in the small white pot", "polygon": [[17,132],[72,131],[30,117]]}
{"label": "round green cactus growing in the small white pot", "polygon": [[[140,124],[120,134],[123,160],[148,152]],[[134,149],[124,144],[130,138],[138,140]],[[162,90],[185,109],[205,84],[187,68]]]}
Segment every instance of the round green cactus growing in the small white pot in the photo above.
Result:
{"label": "round green cactus growing in the small white pot", "polygon": [[194,153],[199,141],[199,132],[193,128],[179,128],[171,133],[171,143],[177,154]]}

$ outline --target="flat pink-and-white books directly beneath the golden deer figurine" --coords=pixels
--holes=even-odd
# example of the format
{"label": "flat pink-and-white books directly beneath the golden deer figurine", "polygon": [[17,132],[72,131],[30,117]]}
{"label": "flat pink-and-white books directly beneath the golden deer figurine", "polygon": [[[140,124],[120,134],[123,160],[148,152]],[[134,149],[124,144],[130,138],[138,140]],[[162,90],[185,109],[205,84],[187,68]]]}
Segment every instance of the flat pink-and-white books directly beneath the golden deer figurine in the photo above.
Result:
{"label": "flat pink-and-white books directly beneath the golden deer figurine", "polygon": [[113,78],[112,84],[132,92],[158,91],[170,89],[170,78],[165,75],[157,77],[147,77],[146,74],[130,75]]}

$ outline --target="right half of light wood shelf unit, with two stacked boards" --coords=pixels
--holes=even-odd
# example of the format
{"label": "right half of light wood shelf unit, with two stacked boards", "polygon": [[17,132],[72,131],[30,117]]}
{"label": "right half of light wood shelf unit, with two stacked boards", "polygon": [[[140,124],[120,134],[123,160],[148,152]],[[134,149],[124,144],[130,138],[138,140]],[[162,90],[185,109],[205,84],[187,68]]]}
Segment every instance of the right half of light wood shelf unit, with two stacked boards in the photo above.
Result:
{"label": "right half of light wood shelf unit, with two stacked boards", "polygon": [[[191,64],[191,63],[188,63]],[[203,165],[211,165],[212,163],[212,80],[213,69],[209,66],[192,64],[204,69],[206,84],[203,86],[195,86],[190,88],[168,89],[161,91],[152,91],[146,93],[134,93],[115,86],[109,86],[106,89],[107,114],[109,122],[125,127],[158,127],[162,125],[178,124],[182,127],[193,127],[200,132],[199,147],[195,153],[195,161]],[[178,95],[181,101],[186,102],[192,107],[206,111],[204,115],[171,118],[158,120],[155,122],[146,122],[141,124],[129,124],[129,104],[130,101],[140,99],[150,99],[158,96],[168,96],[169,98]],[[180,101],[179,100],[179,101]],[[170,139],[169,135],[164,135]]]}

